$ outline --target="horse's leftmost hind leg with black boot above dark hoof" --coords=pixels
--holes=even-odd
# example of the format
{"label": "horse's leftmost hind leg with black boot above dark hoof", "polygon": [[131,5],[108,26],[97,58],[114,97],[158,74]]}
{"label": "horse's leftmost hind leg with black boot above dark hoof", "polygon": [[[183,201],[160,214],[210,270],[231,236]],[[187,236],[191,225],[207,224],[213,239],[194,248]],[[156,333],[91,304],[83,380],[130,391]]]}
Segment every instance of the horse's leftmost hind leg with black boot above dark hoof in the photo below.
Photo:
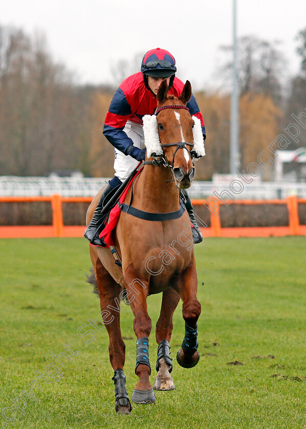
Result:
{"label": "horse's leftmost hind leg with black boot above dark hoof", "polygon": [[[115,410],[118,414],[130,414],[132,406],[127,395],[125,375],[123,372],[125,344],[120,329],[121,288],[106,271],[100,259],[93,260],[93,263],[100,297],[101,318],[104,321],[108,337],[110,338],[108,352],[110,354],[111,365],[114,369],[114,377],[112,380],[115,384]],[[116,308],[116,311],[114,311],[114,308]],[[96,322],[96,319],[94,322]]]}

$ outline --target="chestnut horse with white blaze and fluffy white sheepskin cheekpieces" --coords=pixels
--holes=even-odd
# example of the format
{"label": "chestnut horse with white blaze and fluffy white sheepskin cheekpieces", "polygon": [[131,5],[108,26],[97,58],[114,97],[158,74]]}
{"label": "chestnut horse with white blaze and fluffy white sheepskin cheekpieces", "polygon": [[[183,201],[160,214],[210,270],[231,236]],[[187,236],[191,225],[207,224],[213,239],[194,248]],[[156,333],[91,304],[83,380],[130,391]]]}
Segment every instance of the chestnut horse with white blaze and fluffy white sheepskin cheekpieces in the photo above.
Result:
{"label": "chestnut horse with white blaze and fluffy white sheepskin cheekpieces", "polygon": [[[163,293],[161,313],[156,325],[156,341],[159,346],[156,364],[158,374],[154,389],[174,389],[170,375],[172,363],[169,341],[173,312],[180,298],[183,301],[185,337],[177,360],[184,368],[191,368],[200,358],[197,321],[201,304],[196,298],[198,280],[191,224],[179,198],[179,189],[190,187],[194,177],[193,156],[199,158],[205,154],[200,120],[191,117],[186,107],[190,97],[191,85],[188,81],[179,98],[168,96],[168,86],[163,81],[157,94],[155,115],[143,118],[146,161],[141,174],[134,181],[133,194],[129,189],[125,198],[125,203],[133,200],[131,208],[136,210],[121,212],[113,233],[122,269],[114,263],[110,249],[90,246],[101,316],[110,338],[108,350],[115,372],[115,409],[121,414],[129,414],[132,410],[123,372],[125,344],[120,329],[120,299],[123,291],[135,317],[135,371],[139,382],[133,392],[134,402],[155,401],[149,382],[151,367],[148,337],[152,326],[146,302],[149,294]],[[195,124],[196,121],[199,123]],[[193,126],[197,130],[198,140],[201,135],[200,143],[195,144]],[[93,216],[101,192],[102,189],[88,209],[87,224]],[[139,216],[139,213],[142,214]],[[145,217],[151,216],[151,219],[144,219],[143,213]]]}

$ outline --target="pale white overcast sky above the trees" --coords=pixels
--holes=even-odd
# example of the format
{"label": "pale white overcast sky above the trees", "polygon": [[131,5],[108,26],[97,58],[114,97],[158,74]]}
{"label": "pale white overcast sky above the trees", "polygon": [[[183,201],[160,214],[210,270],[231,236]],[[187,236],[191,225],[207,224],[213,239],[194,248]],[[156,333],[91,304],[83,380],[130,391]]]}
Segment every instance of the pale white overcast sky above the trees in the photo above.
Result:
{"label": "pale white overcast sky above the trees", "polygon": [[[2,4],[2,6],[1,6]],[[114,83],[111,68],[163,47],[177,60],[177,76],[193,88],[216,85],[218,46],[232,43],[232,0],[0,0],[0,24],[44,33],[56,61],[80,83]],[[295,74],[297,32],[306,27],[305,0],[237,0],[237,35],[274,41]]]}

